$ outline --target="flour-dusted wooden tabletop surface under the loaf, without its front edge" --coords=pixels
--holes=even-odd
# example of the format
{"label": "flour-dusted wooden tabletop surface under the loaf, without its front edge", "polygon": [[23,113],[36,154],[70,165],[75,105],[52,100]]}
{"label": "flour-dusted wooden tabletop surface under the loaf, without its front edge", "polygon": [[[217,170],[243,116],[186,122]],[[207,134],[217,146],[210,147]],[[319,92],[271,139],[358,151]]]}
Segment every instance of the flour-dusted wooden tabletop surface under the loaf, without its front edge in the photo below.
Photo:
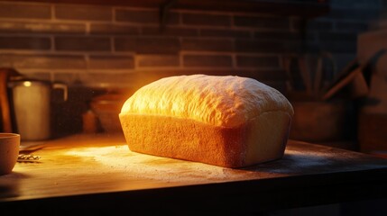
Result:
{"label": "flour-dusted wooden tabletop surface under the loaf, without its front edge", "polygon": [[177,185],[260,180],[387,167],[361,153],[289,141],[285,156],[244,169],[231,169],[135,153],[122,136],[77,135],[42,143],[36,163],[17,163],[0,176],[0,201],[107,193]]}

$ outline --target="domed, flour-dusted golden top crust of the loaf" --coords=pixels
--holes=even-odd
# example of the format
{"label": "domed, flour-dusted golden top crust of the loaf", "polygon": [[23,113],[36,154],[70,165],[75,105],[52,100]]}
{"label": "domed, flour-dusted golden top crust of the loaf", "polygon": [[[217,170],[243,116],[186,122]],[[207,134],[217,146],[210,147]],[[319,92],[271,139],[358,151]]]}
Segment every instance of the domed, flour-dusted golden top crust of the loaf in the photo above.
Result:
{"label": "domed, flour-dusted golden top crust of the loaf", "polygon": [[289,101],[276,89],[240,76],[170,76],[144,85],[121,114],[171,116],[234,128],[263,112],[293,115]]}

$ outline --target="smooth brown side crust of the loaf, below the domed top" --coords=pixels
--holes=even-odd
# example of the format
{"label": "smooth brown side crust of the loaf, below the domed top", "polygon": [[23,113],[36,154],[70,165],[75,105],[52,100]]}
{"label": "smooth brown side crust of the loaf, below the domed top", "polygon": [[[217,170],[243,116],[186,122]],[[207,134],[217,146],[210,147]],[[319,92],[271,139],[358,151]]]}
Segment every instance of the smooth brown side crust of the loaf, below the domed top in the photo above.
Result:
{"label": "smooth brown side crust of the loaf, below the domed top", "polygon": [[[169,116],[119,117],[132,151],[224,167],[251,166],[280,158],[290,125],[287,112],[265,112],[236,128]],[[274,130],[267,132],[266,128]]]}

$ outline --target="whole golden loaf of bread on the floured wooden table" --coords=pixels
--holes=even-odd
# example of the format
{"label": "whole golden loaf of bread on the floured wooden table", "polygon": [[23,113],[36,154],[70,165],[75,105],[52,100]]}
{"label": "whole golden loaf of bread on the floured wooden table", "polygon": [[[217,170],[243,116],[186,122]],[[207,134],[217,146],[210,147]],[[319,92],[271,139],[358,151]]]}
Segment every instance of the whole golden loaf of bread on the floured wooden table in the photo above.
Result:
{"label": "whole golden loaf of bread on the floured wooden table", "polygon": [[281,158],[293,108],[239,76],[170,76],[145,85],[119,114],[132,151],[243,167]]}

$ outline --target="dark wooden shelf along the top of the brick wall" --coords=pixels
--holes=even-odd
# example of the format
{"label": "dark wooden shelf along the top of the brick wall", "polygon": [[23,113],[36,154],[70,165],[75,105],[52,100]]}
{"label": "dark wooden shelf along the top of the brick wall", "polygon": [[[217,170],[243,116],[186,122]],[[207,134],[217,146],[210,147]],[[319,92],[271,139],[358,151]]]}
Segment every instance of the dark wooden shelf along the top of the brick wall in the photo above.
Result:
{"label": "dark wooden shelf along the top of the brick wall", "polygon": [[147,8],[162,8],[168,5],[170,9],[274,14],[304,18],[318,17],[329,12],[329,4],[324,0],[14,0],[14,2],[97,4]]}

